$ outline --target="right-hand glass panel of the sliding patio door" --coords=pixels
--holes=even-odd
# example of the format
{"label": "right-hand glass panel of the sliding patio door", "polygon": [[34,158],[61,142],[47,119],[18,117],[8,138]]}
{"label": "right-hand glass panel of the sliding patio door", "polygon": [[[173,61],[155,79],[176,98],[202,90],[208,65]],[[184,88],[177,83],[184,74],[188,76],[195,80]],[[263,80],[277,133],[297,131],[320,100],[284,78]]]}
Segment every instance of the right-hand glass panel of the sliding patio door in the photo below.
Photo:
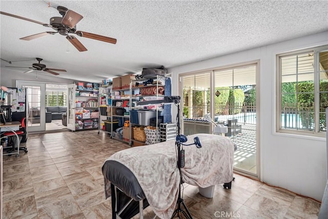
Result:
{"label": "right-hand glass panel of the sliding patio door", "polygon": [[214,112],[236,145],[235,170],[257,174],[256,65],[214,70]]}

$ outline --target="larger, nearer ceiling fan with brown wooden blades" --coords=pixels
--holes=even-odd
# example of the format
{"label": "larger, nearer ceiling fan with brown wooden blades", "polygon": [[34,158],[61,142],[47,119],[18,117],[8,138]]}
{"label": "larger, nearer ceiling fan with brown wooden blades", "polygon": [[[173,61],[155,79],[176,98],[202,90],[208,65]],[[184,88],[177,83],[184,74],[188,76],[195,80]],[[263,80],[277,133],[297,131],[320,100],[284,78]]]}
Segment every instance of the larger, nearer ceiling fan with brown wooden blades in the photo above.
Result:
{"label": "larger, nearer ceiling fan with brown wooden blades", "polygon": [[18,15],[15,15],[15,14],[6,13],[3,11],[0,11],[0,14],[23,19],[25,21],[40,24],[40,25],[43,25],[44,27],[50,27],[50,28],[56,30],[56,32],[47,31],[47,32],[37,33],[37,34],[33,34],[30,36],[25,36],[25,37],[20,38],[25,41],[30,41],[31,39],[35,39],[35,38],[39,38],[39,37],[47,36],[47,35],[54,35],[55,33],[59,33],[60,35],[66,36],[68,41],[71,44],[73,44],[73,46],[80,52],[87,51],[87,48],[83,44],[81,44],[81,42],[79,42],[75,36],[72,36],[70,34],[76,34],[80,37],[87,37],[87,38],[91,38],[91,39],[96,39],[97,41],[104,41],[107,43],[116,44],[115,38],[76,30],[76,24],[79,21],[81,21],[81,19],[83,18],[82,15],[76,13],[75,11],[69,10],[63,6],[58,6],[57,10],[62,17],[51,17],[49,24],[34,21],[29,18],[21,17]]}

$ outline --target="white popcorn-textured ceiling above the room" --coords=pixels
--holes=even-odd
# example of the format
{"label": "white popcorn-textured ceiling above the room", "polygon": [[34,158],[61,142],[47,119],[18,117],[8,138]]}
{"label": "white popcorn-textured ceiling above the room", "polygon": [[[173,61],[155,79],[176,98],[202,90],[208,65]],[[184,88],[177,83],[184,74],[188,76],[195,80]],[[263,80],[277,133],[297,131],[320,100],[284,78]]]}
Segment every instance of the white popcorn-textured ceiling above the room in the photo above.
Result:
{"label": "white popcorn-textured ceiling above the room", "polygon": [[[56,7],[64,6],[84,16],[77,30],[117,38],[117,44],[76,36],[88,49],[79,52],[58,33],[23,41],[19,38],[53,30],[2,14],[1,58],[40,57],[48,68],[67,70],[49,74],[50,78],[90,82],[328,30],[328,1],[50,1],[50,5],[0,1],[0,10],[49,24],[50,17],[60,16]],[[1,61],[1,67],[32,63],[36,61]],[[26,70],[10,69],[21,74]]]}

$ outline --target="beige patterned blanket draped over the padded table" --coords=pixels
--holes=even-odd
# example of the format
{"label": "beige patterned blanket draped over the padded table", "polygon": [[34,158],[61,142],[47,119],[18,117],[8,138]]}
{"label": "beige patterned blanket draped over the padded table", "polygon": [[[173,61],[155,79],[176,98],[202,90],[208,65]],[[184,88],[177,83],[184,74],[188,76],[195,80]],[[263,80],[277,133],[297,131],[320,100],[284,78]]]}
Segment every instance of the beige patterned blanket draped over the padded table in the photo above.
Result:
{"label": "beige patterned blanket draped over the padded table", "polygon": [[[206,188],[232,181],[233,142],[219,135],[195,134],[189,135],[188,142],[184,144],[193,143],[195,136],[199,137],[202,147],[183,146],[183,182]],[[117,161],[129,168],[137,178],[155,214],[160,218],[171,218],[180,183],[176,154],[175,141],[169,141],[122,150],[106,161]]]}

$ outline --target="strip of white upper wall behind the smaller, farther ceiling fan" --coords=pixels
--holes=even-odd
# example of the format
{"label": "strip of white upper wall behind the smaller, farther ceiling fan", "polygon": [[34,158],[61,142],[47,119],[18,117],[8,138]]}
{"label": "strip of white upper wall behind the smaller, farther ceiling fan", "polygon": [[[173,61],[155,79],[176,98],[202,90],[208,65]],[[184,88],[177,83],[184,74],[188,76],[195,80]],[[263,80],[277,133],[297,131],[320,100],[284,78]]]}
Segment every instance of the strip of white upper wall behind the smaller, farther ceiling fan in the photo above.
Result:
{"label": "strip of white upper wall behind the smaller, farther ceiling fan", "polygon": [[[67,74],[64,72],[63,74]],[[32,81],[32,82],[48,82],[48,83],[58,83],[58,84],[73,84],[74,81],[71,79],[60,78],[58,76],[52,76],[47,72],[39,72],[37,78],[35,78],[35,73],[23,73],[23,71],[16,71],[6,68],[0,68],[0,85],[5,87],[16,87],[16,80],[21,81]]]}

